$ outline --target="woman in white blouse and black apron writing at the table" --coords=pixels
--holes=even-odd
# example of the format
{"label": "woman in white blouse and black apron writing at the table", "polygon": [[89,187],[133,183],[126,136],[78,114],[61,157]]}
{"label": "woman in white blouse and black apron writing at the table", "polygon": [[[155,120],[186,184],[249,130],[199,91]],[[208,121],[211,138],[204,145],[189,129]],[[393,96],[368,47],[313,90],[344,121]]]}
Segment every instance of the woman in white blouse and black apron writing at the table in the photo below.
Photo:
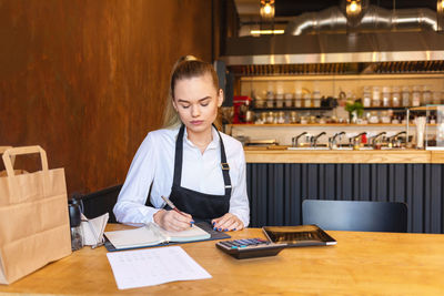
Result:
{"label": "woman in white blouse and black apron writing at the table", "polygon": [[[242,144],[213,125],[222,102],[211,64],[190,55],[176,62],[164,129],[150,132],[132,161],[113,210],[119,222],[155,222],[175,232],[189,228],[194,220],[209,221],[218,231],[248,226]],[[151,184],[153,207],[145,205]],[[162,195],[182,213],[162,208]]]}

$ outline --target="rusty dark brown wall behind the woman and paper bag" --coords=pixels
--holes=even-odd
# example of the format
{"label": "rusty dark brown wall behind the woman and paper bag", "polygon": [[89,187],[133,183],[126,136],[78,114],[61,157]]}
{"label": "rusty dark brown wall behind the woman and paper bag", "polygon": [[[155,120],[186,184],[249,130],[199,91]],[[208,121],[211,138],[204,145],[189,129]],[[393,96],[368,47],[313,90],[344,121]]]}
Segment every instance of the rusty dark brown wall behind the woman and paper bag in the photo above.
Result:
{"label": "rusty dark brown wall behind the woman and paper bag", "polygon": [[174,61],[211,61],[211,16],[210,0],[0,0],[0,145],[41,145],[70,193],[122,183]]}

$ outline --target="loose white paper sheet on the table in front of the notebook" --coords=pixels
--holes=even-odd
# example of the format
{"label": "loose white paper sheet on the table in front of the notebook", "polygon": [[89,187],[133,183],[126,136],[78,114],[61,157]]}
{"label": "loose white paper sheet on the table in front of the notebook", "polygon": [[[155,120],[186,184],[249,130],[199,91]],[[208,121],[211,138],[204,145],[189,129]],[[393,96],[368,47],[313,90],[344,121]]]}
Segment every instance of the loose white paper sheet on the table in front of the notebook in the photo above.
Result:
{"label": "loose white paper sheet on the table in front of the notebook", "polygon": [[107,253],[119,289],[211,278],[180,246]]}

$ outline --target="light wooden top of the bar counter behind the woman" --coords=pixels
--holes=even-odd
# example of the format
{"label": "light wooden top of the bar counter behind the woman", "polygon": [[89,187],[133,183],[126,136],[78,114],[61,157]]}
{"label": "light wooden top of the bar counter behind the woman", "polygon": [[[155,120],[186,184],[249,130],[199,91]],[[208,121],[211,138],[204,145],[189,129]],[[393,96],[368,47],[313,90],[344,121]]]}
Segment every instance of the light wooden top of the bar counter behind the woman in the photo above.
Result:
{"label": "light wooden top of the bar counter behind the woman", "polygon": [[444,163],[444,151],[245,149],[248,163]]}

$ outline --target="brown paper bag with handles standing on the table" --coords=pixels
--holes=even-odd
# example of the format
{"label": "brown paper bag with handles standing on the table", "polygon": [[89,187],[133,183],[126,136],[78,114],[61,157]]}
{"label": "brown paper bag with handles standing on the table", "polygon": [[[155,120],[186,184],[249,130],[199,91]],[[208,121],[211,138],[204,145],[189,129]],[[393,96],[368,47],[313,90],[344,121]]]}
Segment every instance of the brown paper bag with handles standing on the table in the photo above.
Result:
{"label": "brown paper bag with handles standing on the table", "polygon": [[[11,156],[40,153],[42,170],[17,175]],[[0,283],[12,282],[71,254],[63,169],[48,169],[40,146],[6,150],[0,177]]]}

